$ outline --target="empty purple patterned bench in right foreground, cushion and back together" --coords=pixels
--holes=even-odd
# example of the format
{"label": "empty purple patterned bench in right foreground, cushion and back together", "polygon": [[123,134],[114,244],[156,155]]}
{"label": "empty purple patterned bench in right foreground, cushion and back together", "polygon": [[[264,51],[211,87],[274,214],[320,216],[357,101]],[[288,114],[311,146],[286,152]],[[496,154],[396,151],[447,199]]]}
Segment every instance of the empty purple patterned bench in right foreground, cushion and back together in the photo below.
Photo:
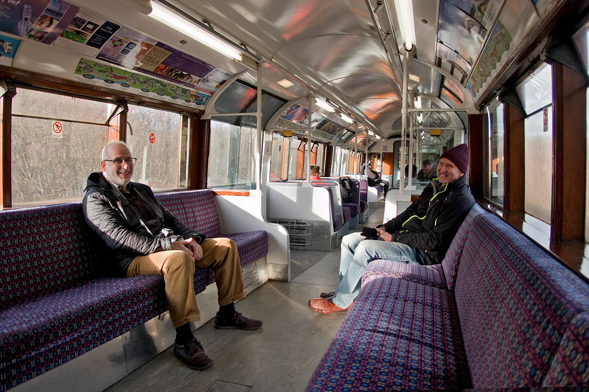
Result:
{"label": "empty purple patterned bench in right foreground, cushion and back together", "polygon": [[466,225],[455,275],[367,276],[306,391],[589,385],[589,285],[494,214]]}

